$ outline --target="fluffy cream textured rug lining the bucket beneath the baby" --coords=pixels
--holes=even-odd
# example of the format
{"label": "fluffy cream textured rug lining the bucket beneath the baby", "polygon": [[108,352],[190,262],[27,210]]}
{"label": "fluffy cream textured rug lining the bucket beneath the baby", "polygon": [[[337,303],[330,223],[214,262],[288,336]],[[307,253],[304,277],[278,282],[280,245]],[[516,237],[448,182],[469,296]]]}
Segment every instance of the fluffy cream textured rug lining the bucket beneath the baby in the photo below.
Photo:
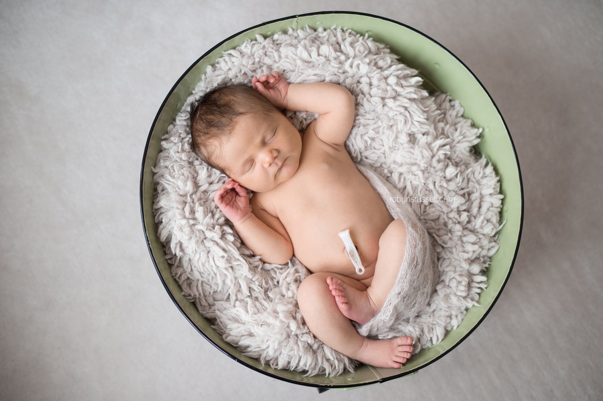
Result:
{"label": "fluffy cream textured rug lining the bucket beneath the baby", "polygon": [[[498,249],[502,195],[493,167],[473,153],[481,129],[450,96],[429,96],[417,71],[380,43],[353,31],[309,29],[247,41],[207,67],[178,113],[154,169],[154,211],[172,275],[224,339],[273,368],[335,376],[357,362],[318,341],[303,323],[296,293],[307,270],[250,252],[213,202],[226,176],[191,148],[189,103],[219,84],[250,84],[278,70],[292,83],[329,81],[356,98],[346,141],[356,163],[399,188],[434,238],[440,283],[428,307],[379,338],[410,335],[415,352],[436,344],[476,305],[485,267]],[[312,113],[292,113],[297,128]],[[426,197],[427,200],[417,201]]]}

